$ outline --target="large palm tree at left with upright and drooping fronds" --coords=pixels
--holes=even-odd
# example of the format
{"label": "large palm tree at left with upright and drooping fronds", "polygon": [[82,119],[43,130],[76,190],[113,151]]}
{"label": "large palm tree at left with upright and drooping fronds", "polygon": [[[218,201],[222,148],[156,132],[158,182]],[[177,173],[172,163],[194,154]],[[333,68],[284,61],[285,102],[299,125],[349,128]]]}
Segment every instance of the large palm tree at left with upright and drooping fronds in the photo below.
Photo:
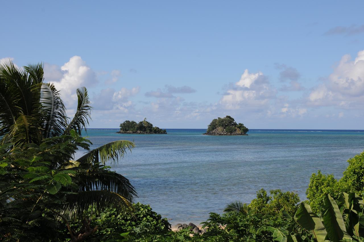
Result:
{"label": "large palm tree at left with upright and drooping fronds", "polygon": [[[82,130],[87,131],[90,119],[91,106],[87,89],[80,87],[76,90],[78,105],[74,117],[70,119],[66,115],[66,108],[59,91],[53,84],[43,82],[43,74],[41,63],[25,66],[23,69],[19,69],[11,61],[0,65],[0,145],[8,147],[8,152],[19,149],[25,152],[29,147],[39,148],[47,142],[54,142],[52,138],[67,140],[71,137],[74,141],[67,142],[77,143],[79,147],[86,149],[85,155],[72,161],[71,153],[78,148],[68,149],[68,143],[67,145],[65,143],[62,152],[66,154],[63,154],[63,159],[52,158],[47,167],[52,171],[52,176],[55,171],[62,171],[70,176],[72,186],[71,183],[64,183],[61,186],[59,183],[62,183],[62,179],[58,182],[51,180],[54,187],[49,188],[53,190],[47,192],[52,191],[56,194],[62,191],[66,195],[64,200],[59,201],[65,206],[57,209],[50,207],[49,210],[54,212],[56,218],[67,223],[72,241],[81,241],[80,238],[85,236],[79,234],[80,236],[76,237],[68,219],[83,216],[90,206],[98,208],[98,211],[110,206],[130,211],[131,202],[137,196],[137,192],[126,177],[110,171],[106,163],[117,162],[135,145],[127,140],[119,140],[88,150],[87,140],[81,137]],[[6,146],[8,143],[11,143],[11,147]],[[62,170],[64,167],[67,167],[67,171]],[[24,170],[24,167],[19,169]],[[32,179],[39,181],[48,179],[47,175],[39,175],[39,172],[34,174],[29,176],[34,176]],[[67,180],[67,176],[64,176],[66,177],[64,179]],[[0,187],[1,195],[4,195],[4,191],[5,189]],[[3,197],[9,201],[10,197],[6,198],[6,195]],[[87,230],[87,233],[84,233],[86,236],[94,232],[89,224],[90,222],[83,224],[83,229]]]}

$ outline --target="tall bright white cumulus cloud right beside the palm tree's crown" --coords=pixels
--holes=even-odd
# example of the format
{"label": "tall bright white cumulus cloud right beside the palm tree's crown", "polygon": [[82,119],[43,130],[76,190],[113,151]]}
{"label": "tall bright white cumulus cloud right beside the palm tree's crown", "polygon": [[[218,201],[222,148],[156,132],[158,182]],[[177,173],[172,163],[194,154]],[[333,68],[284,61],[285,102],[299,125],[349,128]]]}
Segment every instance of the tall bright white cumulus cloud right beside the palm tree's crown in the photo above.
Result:
{"label": "tall bright white cumulus cloud right beside the palm tree's crown", "polygon": [[95,72],[86,65],[80,56],[73,56],[60,69],[57,66],[44,64],[46,82],[53,82],[60,91],[66,105],[76,103],[76,89],[82,86],[93,86],[97,83]]}

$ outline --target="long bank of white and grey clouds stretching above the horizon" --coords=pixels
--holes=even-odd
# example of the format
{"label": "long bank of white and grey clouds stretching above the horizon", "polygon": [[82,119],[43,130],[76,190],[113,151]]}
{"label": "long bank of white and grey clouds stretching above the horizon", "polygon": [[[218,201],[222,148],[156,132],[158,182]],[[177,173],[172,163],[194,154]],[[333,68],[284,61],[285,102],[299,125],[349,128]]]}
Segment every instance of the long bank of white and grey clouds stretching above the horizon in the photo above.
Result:
{"label": "long bank of white and grey clouds stretching above the horizon", "polygon": [[[8,60],[13,61],[13,58],[2,58],[0,63]],[[81,56],[72,56],[63,66],[44,63],[44,78],[60,90],[69,112],[75,110],[75,90],[78,87],[86,86],[92,90],[92,119],[96,124],[91,125],[92,128],[117,128],[124,120],[143,117],[172,128],[177,128],[174,122],[207,125],[211,118],[228,114],[244,122],[287,119],[294,122],[317,117],[329,120],[344,118],[347,114],[351,118],[363,117],[364,50],[359,51],[354,59],[344,55],[330,75],[307,88],[302,86],[302,74],[295,67],[277,63],[274,66],[280,71],[276,79],[281,86],[273,84],[272,77],[266,76],[264,70],[252,73],[245,69],[239,80],[229,80],[217,87],[216,91],[221,93],[219,99],[206,102],[196,102],[189,96],[203,90],[186,85],[166,84],[155,90],[143,90],[135,83],[131,88],[114,89],[115,82],[122,82],[121,72],[96,72]],[[294,93],[293,98],[286,93]],[[323,114],[322,110],[329,112]]]}

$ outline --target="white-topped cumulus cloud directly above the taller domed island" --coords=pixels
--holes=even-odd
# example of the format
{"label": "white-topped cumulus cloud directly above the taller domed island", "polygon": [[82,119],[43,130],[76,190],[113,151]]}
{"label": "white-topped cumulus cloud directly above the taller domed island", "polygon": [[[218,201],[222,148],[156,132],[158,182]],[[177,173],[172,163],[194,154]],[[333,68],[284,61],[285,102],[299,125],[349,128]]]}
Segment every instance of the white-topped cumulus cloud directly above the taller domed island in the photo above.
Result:
{"label": "white-topped cumulus cloud directly above the taller domed island", "polygon": [[244,71],[235,85],[230,86],[222,96],[220,104],[225,109],[262,108],[269,106],[269,101],[276,97],[276,89],[272,87],[263,73]]}

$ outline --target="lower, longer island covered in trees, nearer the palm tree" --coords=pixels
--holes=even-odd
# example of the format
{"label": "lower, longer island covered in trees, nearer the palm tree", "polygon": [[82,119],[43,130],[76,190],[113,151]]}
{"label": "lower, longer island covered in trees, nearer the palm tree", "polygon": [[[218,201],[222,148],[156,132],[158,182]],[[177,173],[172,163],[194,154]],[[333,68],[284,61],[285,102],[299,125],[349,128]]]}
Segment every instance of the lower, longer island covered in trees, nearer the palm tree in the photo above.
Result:
{"label": "lower, longer island covered in trees, nearer the palm tree", "polygon": [[126,120],[122,124],[120,124],[120,131],[116,132],[119,134],[166,134],[167,131],[165,129],[160,129],[158,127],[154,127],[153,124],[147,121],[147,118],[144,118],[143,121],[135,122]]}

